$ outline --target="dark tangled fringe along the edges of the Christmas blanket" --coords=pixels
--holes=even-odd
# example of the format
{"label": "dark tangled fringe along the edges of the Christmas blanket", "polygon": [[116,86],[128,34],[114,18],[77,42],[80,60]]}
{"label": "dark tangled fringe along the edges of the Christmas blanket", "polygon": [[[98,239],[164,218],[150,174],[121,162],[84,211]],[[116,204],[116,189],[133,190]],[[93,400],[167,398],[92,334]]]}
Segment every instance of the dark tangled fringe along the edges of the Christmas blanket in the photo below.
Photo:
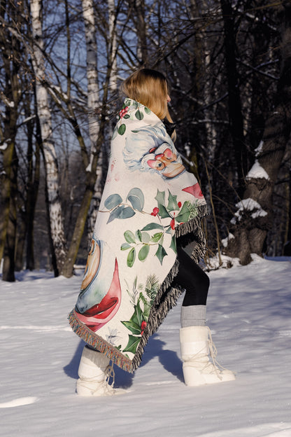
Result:
{"label": "dark tangled fringe along the edges of the Christmas blanket", "polygon": [[[192,251],[192,258],[196,263],[199,262],[200,258],[203,258],[206,251],[206,238],[201,228],[201,218],[207,214],[207,206],[201,205],[198,210],[198,215],[194,219],[187,221],[187,223],[180,224],[175,230],[177,243],[181,247],[185,247],[187,244],[193,241],[196,243]],[[88,345],[105,354],[118,367],[126,370],[127,372],[133,373],[141,363],[143,349],[146,347],[150,335],[157,331],[159,326],[162,324],[162,321],[166,317],[166,314],[168,314],[169,310],[176,305],[180,294],[183,292],[183,289],[180,286],[171,286],[174,277],[178,275],[178,267],[179,262],[178,258],[176,258],[175,263],[169,271],[169,274],[159,287],[159,291],[157,292],[157,296],[155,297],[155,301],[150,310],[148,324],[143,331],[141,341],[139,342],[139,346],[136,349],[136,354],[132,360],[127,358],[127,356],[122,354],[118,349],[110,345],[108,342],[106,342],[106,340],[101,338],[97,333],[94,333],[90,330],[90,328],[83,324],[78,319],[78,313],[76,313],[75,310],[72,310],[68,317],[71,328]]]}

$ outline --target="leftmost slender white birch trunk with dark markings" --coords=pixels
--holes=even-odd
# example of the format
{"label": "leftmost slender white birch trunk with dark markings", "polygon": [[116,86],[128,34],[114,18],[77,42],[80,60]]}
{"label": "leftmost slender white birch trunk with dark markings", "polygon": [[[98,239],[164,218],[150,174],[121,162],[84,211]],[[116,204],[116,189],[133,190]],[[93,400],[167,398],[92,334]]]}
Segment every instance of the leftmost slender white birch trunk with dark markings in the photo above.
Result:
{"label": "leftmost slender white birch trunk with dark markings", "polygon": [[[66,257],[62,205],[59,198],[59,175],[57,155],[52,139],[52,120],[48,101],[48,92],[43,85],[45,65],[43,61],[43,33],[42,33],[42,5],[41,0],[31,0],[31,31],[34,41],[34,55],[32,64],[36,77],[36,102],[38,119],[41,126],[43,156],[45,160],[45,177],[48,190],[48,210],[52,247],[55,251],[57,265],[54,266],[55,275],[62,272],[62,265]],[[52,254],[53,258],[53,254]]]}

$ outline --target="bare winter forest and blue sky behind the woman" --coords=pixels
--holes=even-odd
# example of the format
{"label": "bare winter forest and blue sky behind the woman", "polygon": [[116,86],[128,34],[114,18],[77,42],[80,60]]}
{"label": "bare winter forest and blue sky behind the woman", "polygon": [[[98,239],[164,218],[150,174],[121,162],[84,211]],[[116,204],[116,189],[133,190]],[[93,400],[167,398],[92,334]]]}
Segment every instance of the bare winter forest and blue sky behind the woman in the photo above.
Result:
{"label": "bare winter forest and blue sky behind the woman", "polygon": [[85,263],[139,67],[171,83],[176,148],[211,209],[206,267],[291,254],[289,0],[0,0],[2,279]]}

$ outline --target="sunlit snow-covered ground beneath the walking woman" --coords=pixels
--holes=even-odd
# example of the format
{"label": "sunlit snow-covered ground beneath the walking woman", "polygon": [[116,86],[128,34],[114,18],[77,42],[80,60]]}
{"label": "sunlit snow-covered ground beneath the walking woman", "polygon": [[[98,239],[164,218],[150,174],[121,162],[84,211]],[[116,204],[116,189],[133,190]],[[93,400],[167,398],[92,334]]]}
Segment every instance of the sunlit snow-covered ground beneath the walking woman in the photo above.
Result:
{"label": "sunlit snow-covered ground beneath the walking woman", "polygon": [[210,273],[208,325],[234,382],[185,387],[180,305],[152,336],[120,396],[75,394],[83,342],[66,316],[81,277],[21,272],[0,283],[0,436],[290,437],[290,258]]}

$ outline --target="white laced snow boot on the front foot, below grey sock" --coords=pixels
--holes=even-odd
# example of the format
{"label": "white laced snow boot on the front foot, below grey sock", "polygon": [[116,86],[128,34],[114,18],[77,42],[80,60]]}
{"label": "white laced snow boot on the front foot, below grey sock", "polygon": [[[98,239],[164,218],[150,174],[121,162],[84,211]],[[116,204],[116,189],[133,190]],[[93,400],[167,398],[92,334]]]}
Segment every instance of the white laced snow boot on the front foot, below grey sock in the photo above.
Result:
{"label": "white laced snow boot on the front foot, below grey sock", "polygon": [[208,326],[181,328],[180,348],[186,385],[193,387],[235,380],[231,370],[222,368],[215,361],[217,351]]}

